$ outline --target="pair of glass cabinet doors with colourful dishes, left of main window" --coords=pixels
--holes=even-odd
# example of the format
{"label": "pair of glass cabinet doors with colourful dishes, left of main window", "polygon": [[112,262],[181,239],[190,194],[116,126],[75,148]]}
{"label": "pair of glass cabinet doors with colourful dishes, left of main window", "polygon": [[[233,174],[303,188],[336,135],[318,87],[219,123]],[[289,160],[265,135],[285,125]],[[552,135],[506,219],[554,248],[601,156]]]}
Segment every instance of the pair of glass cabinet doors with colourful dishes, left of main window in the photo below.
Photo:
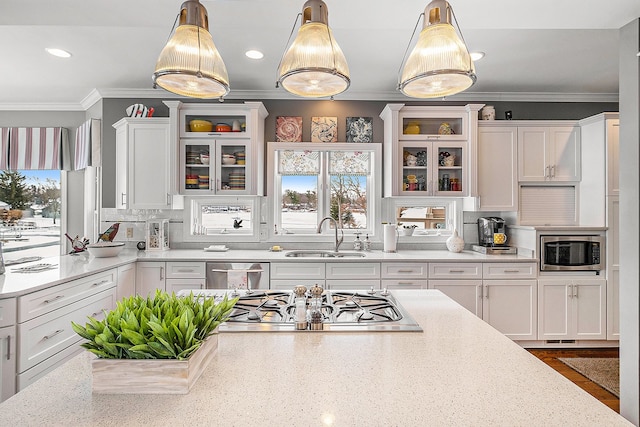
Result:
{"label": "pair of glass cabinet doors with colourful dishes, left of main window", "polygon": [[180,140],[182,194],[254,194],[252,146],[247,139]]}

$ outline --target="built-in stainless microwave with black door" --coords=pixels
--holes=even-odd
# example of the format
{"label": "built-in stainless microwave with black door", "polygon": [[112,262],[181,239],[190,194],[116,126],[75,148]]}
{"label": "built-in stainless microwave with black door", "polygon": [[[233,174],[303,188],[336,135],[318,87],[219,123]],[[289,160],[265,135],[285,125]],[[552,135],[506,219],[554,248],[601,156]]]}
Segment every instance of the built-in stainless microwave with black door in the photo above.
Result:
{"label": "built-in stainless microwave with black door", "polygon": [[604,236],[540,236],[541,271],[604,270]]}

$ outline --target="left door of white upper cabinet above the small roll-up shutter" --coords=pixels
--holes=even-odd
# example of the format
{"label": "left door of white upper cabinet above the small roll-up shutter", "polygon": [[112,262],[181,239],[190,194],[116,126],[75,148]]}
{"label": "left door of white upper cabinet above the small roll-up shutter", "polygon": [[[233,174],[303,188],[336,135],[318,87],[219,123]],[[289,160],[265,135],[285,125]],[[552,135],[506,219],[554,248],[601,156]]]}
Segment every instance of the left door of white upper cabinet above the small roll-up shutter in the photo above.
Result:
{"label": "left door of white upper cabinet above the small roll-up shutter", "polygon": [[549,133],[544,127],[518,128],[518,180],[546,181]]}

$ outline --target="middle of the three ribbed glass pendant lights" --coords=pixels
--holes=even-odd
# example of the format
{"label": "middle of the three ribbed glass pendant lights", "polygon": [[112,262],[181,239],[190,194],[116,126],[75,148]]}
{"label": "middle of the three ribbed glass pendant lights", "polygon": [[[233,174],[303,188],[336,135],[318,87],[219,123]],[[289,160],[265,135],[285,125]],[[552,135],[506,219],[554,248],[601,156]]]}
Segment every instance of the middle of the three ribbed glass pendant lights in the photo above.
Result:
{"label": "middle of the three ribbed glass pendant lights", "polygon": [[327,5],[322,0],[308,0],[301,15],[298,35],[278,66],[276,87],[282,85],[288,92],[306,98],[344,92],[351,83],[349,66],[329,28]]}

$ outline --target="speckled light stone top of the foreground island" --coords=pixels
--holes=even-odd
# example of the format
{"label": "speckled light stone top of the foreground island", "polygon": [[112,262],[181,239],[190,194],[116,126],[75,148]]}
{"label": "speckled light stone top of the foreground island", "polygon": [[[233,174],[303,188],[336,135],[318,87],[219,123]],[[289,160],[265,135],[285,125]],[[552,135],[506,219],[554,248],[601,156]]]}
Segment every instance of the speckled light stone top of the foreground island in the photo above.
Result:
{"label": "speckled light stone top of the foreground island", "polygon": [[0,425],[632,425],[439,291],[394,295],[424,332],[221,333],[187,395],[94,395],[85,352]]}

